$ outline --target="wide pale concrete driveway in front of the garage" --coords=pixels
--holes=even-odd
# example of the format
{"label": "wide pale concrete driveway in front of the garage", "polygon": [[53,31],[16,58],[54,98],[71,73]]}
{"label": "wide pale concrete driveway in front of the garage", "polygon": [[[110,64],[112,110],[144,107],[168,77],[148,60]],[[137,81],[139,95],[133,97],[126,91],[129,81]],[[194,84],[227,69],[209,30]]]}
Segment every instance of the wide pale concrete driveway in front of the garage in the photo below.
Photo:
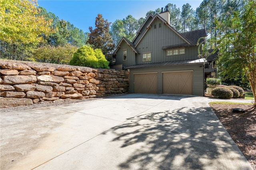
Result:
{"label": "wide pale concrete driveway in front of the garage", "polygon": [[129,94],[1,114],[1,169],[252,170],[206,97]]}

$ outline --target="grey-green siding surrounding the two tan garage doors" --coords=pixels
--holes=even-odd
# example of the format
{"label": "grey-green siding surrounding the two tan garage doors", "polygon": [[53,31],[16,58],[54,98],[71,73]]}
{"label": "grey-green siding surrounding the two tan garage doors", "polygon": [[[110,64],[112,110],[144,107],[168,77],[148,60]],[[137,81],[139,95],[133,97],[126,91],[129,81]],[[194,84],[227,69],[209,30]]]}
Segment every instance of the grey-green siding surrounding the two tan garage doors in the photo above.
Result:
{"label": "grey-green siding surrounding the two tan garage doors", "polygon": [[130,69],[129,75],[129,92],[134,93],[134,74],[157,72],[157,93],[163,93],[163,73],[162,71],[192,71],[192,95],[202,96],[204,94],[204,67],[203,64],[175,65],[164,67],[149,67]]}

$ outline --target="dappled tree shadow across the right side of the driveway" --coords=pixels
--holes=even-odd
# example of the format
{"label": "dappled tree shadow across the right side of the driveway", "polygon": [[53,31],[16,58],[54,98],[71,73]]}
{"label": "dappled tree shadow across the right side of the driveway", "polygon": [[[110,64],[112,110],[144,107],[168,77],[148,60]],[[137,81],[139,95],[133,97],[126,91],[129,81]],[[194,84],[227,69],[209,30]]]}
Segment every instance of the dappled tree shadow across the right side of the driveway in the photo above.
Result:
{"label": "dappled tree shadow across the right side of the driveway", "polygon": [[143,113],[109,132],[134,146],[122,169],[250,169],[210,107]]}

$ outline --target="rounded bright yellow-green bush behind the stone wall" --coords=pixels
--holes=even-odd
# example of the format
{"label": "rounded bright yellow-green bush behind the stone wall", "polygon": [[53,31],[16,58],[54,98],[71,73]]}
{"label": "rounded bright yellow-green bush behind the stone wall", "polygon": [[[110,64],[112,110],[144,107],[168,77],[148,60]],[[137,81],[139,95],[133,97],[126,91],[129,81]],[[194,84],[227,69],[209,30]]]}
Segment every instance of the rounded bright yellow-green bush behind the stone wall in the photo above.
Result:
{"label": "rounded bright yellow-green bush behind the stone wall", "polygon": [[101,49],[92,49],[88,45],[80,47],[70,60],[70,65],[78,65],[92,68],[107,68],[108,61],[105,59]]}

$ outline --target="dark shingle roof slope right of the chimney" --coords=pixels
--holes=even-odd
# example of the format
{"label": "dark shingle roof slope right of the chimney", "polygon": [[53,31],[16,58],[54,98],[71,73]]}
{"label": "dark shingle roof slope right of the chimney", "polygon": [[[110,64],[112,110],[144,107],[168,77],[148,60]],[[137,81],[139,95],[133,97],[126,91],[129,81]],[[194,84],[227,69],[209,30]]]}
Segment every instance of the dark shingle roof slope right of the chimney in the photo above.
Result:
{"label": "dark shingle roof slope right of the chimney", "polygon": [[[186,39],[188,39],[193,45],[196,45],[199,38],[206,37],[206,30],[195,30],[190,32],[183,32],[180,33],[182,36],[184,36]],[[201,40],[202,42],[202,40]]]}

